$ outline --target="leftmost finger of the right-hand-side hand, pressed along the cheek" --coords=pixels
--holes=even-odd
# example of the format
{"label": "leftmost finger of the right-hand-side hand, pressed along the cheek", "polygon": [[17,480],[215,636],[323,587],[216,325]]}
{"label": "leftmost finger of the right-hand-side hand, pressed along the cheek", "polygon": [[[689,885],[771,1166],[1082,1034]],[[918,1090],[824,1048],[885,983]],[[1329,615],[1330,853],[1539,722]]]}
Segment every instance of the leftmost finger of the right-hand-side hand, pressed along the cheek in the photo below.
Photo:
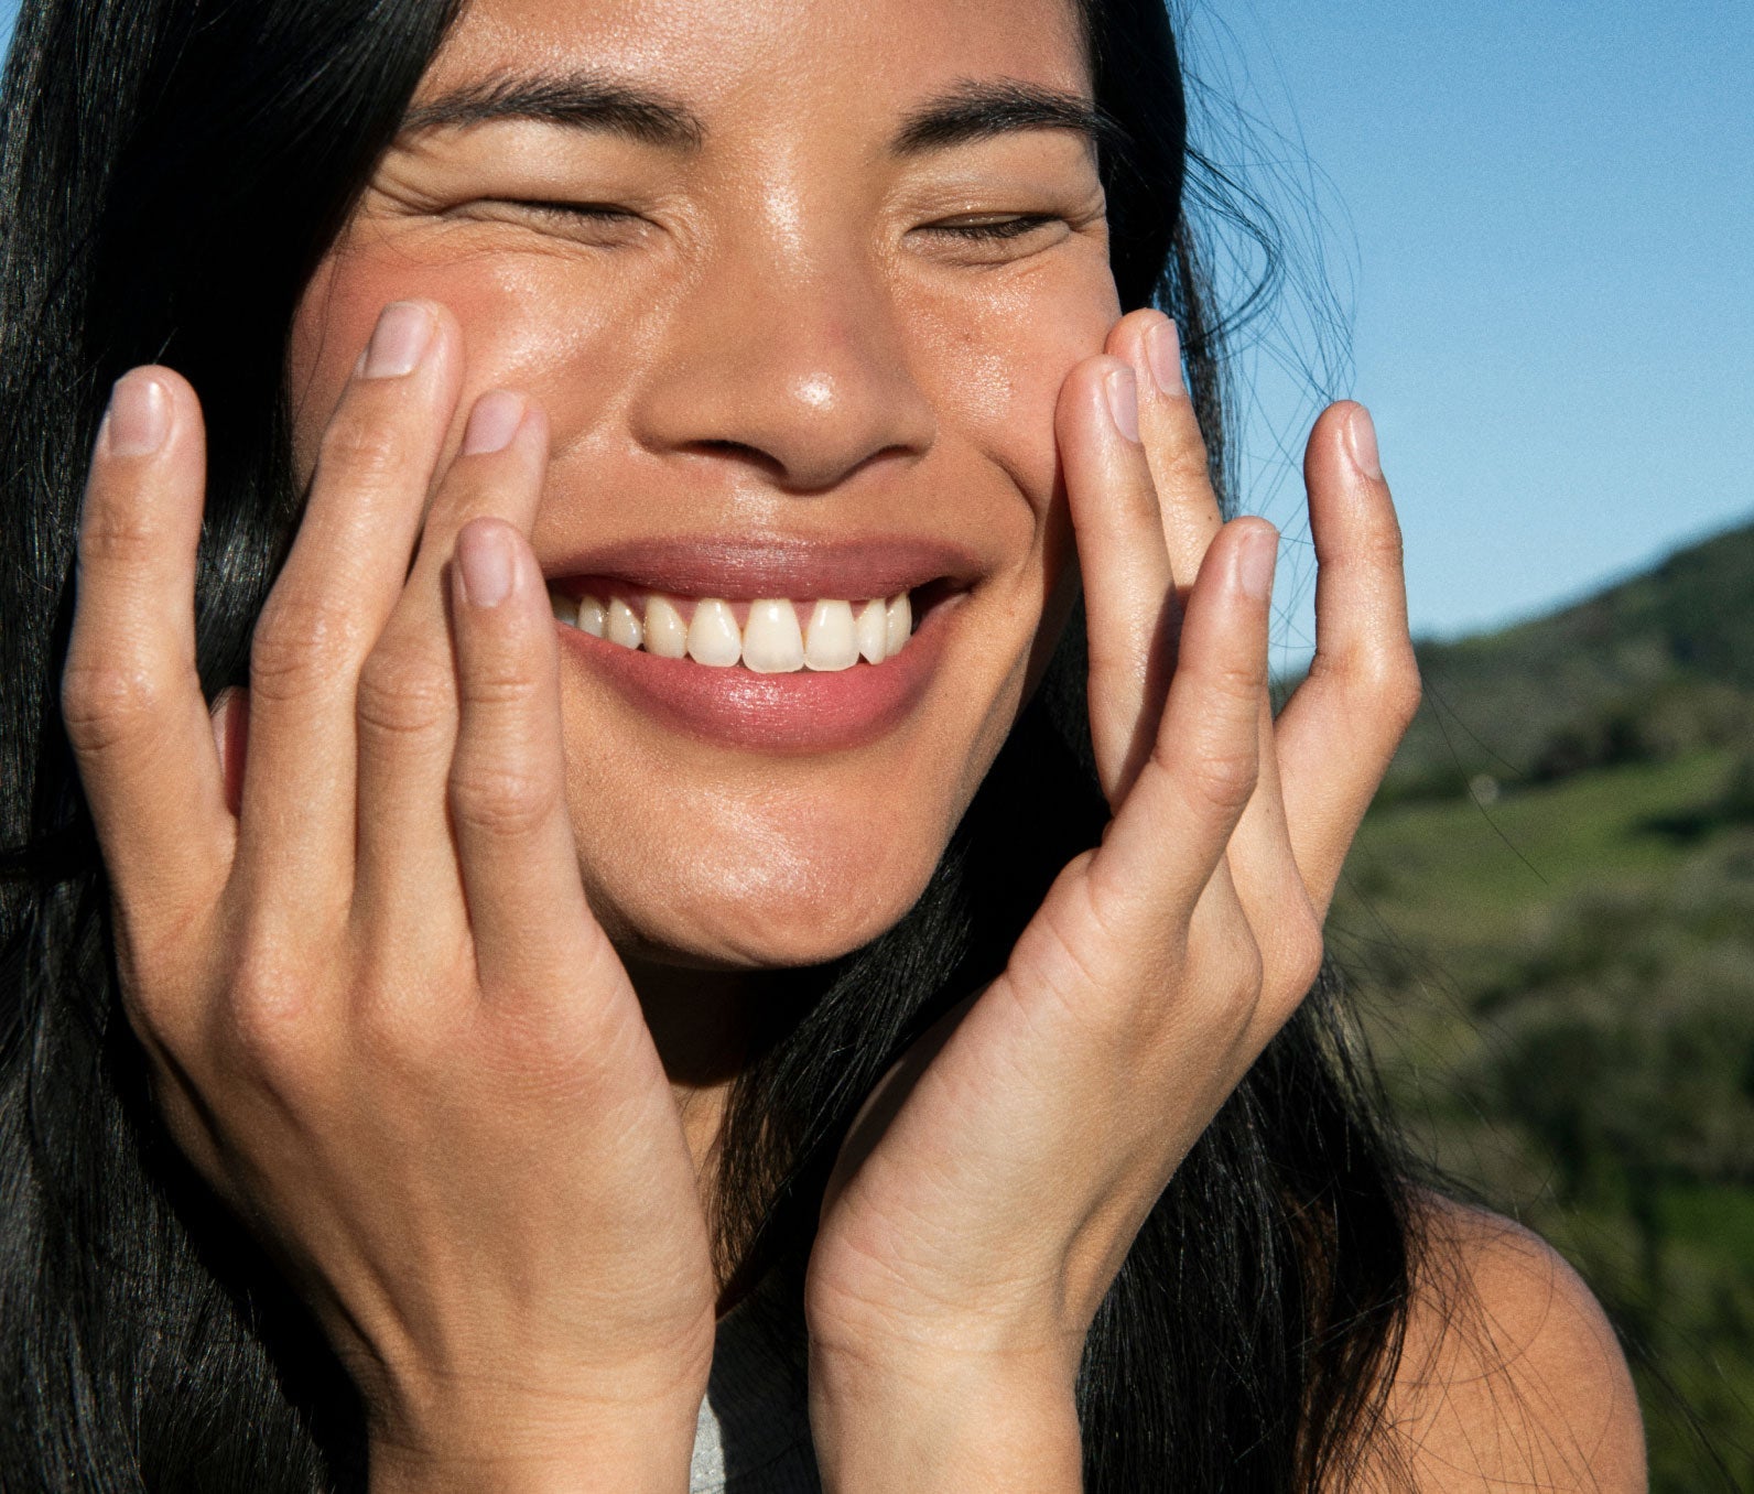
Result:
{"label": "leftmost finger of the right-hand-side hand, pressed along the cheek", "polygon": [[1054,416],[1084,577],[1091,743],[1110,805],[1126,798],[1151,754],[1177,614],[1158,493],[1138,442],[1137,382],[1117,358],[1086,359],[1061,386]]}

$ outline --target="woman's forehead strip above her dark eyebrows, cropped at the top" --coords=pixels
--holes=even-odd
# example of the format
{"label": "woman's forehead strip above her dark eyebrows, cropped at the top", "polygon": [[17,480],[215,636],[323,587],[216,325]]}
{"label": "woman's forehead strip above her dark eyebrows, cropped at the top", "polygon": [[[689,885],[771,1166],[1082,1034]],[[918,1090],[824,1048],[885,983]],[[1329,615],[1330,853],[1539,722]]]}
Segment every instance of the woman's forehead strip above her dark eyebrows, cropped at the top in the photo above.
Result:
{"label": "woman's forehead strip above her dark eyebrows, cropped at the top", "polygon": [[631,75],[703,114],[882,110],[995,77],[1089,93],[1075,0],[468,0],[421,96],[549,68]]}

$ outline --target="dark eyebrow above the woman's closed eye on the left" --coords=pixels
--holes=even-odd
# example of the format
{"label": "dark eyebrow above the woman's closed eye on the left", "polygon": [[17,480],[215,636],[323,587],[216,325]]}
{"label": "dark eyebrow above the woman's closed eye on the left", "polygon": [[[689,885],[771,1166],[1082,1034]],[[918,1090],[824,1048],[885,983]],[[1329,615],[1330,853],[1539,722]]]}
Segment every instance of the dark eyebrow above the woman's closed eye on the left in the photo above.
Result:
{"label": "dark eyebrow above the woman's closed eye on the left", "polygon": [[403,133],[465,128],[495,119],[535,119],[574,130],[607,130],[647,146],[693,151],[705,126],[686,105],[593,72],[502,74],[412,107]]}

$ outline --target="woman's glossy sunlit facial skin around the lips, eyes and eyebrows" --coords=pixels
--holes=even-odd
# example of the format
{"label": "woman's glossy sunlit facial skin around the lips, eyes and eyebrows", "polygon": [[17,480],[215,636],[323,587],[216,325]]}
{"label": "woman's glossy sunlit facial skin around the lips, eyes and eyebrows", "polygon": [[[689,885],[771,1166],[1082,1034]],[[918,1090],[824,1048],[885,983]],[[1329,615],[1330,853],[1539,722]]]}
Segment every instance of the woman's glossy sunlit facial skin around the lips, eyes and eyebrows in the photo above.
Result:
{"label": "woman's glossy sunlit facial skin around the lips, eyes and eyebrows", "polygon": [[[310,465],[384,303],[449,307],[460,407],[514,388],[547,414],[531,530],[547,575],[582,544],[726,537],[942,540],[979,566],[928,700],[852,751],[693,742],[563,656],[567,738],[591,743],[567,763],[586,886],[633,954],[814,963],[893,924],[1016,715],[1063,568],[1054,400],[1119,316],[1093,153],[1070,132],[888,146],[965,77],[1086,93],[1086,68],[1058,5],[895,21],[800,4],[474,7],[419,102],[540,58],[686,102],[702,144],[533,121],[428,132],[384,163],[295,328]],[[1068,221],[1014,240],[951,226],[998,214]]]}

